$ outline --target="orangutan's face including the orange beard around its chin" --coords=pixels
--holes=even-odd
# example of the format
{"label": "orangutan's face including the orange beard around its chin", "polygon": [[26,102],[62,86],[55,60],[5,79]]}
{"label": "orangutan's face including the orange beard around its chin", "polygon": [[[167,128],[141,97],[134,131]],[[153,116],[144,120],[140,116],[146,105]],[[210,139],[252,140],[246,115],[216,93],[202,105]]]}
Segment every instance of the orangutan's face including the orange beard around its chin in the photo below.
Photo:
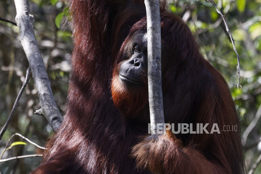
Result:
{"label": "orangutan's face including the orange beard around its chin", "polygon": [[[127,117],[136,117],[139,113],[143,113],[146,119],[140,119],[149,121],[147,33],[143,31],[134,33],[128,38],[120,53],[121,62],[115,65],[112,79],[111,92],[114,104]],[[161,53],[162,73],[164,73],[168,63],[166,55],[169,55],[164,42]],[[145,112],[141,112],[142,109],[145,109],[143,110]]]}

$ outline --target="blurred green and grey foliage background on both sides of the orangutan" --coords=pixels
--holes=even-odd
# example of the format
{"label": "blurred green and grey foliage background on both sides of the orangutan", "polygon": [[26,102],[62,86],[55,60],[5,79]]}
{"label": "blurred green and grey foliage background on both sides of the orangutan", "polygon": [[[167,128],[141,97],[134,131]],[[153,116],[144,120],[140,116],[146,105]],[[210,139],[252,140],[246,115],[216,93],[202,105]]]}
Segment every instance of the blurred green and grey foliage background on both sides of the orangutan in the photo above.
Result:
{"label": "blurred green and grey foliage background on both sides of the orangutan", "polygon": [[[242,133],[254,119],[261,104],[261,0],[215,0],[225,14],[240,56],[242,90],[237,89],[237,60],[225,25],[214,6],[203,0],[173,0],[169,12],[183,18],[191,28],[202,54],[224,76],[229,84],[241,119]],[[36,39],[51,82],[58,108],[64,114],[69,83],[72,50],[68,8],[58,0],[31,0],[35,17]],[[14,1],[0,1],[0,17],[15,19]],[[19,29],[0,22],[0,127],[12,109],[25,79],[28,61],[19,41]],[[47,120],[33,114],[40,109],[38,94],[31,80],[22,95],[14,118],[0,142],[0,153],[14,133],[20,133],[40,146],[53,134]],[[244,155],[249,171],[261,153],[261,121],[250,132]],[[24,141],[14,137],[12,142]],[[3,159],[29,154],[42,154],[42,149],[27,143],[5,152]],[[0,173],[28,173],[39,165],[41,157],[25,158],[1,163]],[[261,173],[261,165],[255,173]]]}

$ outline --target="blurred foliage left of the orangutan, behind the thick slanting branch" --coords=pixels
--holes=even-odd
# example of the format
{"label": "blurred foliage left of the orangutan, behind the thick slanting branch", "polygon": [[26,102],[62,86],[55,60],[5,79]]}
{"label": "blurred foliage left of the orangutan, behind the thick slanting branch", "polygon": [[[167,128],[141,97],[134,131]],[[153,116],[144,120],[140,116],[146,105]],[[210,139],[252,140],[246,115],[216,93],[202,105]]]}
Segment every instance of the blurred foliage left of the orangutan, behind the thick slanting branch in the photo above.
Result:
{"label": "blurred foliage left of the orangutan, behind the thick slanting branch", "polygon": [[[29,3],[31,13],[35,17],[36,39],[47,68],[54,98],[61,113],[64,114],[72,50],[71,29],[65,17],[68,8],[67,11],[64,10],[65,5],[58,0],[32,0]],[[0,17],[15,21],[15,15],[14,1],[0,1]],[[25,79],[29,64],[20,44],[19,29],[16,26],[0,22],[0,41],[0,128],[2,128]],[[45,145],[53,131],[43,116],[33,114],[40,107],[31,76],[14,118],[0,142],[0,153],[14,133],[20,133],[40,146]],[[14,136],[12,143],[17,141],[24,140]],[[30,154],[42,154],[42,149],[30,143],[14,146],[4,153],[3,159]],[[0,164],[0,173],[28,173],[39,165],[40,161],[41,157],[32,157],[4,162]]]}

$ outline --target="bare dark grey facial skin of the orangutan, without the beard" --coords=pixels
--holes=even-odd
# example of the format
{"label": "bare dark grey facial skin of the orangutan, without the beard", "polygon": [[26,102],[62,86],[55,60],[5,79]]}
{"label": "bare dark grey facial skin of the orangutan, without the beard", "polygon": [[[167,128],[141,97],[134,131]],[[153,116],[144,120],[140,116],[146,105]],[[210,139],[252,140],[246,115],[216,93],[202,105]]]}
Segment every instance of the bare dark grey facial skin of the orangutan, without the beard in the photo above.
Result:
{"label": "bare dark grey facial skin of the orangutan, without the beard", "polygon": [[129,84],[141,85],[147,81],[147,34],[136,33],[128,44],[126,57],[119,69],[119,78]]}

